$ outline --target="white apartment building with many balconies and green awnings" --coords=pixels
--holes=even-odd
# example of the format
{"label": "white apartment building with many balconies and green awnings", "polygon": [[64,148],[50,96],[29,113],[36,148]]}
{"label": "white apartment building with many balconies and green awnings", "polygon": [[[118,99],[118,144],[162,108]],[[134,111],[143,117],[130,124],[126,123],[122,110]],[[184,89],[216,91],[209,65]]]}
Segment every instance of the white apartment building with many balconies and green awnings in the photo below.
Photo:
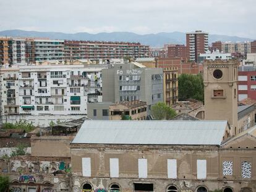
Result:
{"label": "white apartment building with many balconies and green awnings", "polygon": [[3,122],[26,119],[47,127],[51,120],[84,117],[87,102],[102,101],[106,67],[49,63],[2,69]]}

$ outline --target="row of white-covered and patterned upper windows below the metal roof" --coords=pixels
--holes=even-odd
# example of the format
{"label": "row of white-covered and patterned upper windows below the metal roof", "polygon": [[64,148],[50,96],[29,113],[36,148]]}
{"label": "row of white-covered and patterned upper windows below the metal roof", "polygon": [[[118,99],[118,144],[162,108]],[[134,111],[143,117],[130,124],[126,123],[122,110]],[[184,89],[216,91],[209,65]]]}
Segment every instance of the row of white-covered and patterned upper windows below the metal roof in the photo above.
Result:
{"label": "row of white-covered and patterned upper windows below the metal roof", "polygon": [[[167,178],[177,178],[177,159],[167,159]],[[92,177],[91,158],[82,158],[82,175],[83,177]],[[223,161],[223,176],[233,175],[233,161]],[[110,177],[119,177],[119,159],[109,158],[109,175]],[[147,159],[138,159],[139,178],[148,177]],[[252,177],[252,162],[244,161],[241,163],[241,177]],[[197,179],[207,178],[207,160],[197,159]]]}

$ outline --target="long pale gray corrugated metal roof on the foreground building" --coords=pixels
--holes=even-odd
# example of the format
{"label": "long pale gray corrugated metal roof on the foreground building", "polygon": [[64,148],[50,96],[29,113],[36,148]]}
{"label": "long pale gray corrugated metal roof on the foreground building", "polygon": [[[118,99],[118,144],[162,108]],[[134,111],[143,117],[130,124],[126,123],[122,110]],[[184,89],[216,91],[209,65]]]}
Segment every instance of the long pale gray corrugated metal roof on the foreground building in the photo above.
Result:
{"label": "long pale gray corrugated metal roof on the foreground building", "polygon": [[220,145],[226,121],[86,120],[72,143]]}

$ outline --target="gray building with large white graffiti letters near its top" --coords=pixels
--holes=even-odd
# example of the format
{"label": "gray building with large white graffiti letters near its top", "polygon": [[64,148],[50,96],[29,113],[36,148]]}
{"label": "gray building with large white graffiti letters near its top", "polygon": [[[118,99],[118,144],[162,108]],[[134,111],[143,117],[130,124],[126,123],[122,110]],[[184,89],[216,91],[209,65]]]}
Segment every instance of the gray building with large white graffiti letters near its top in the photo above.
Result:
{"label": "gray building with large white graffiti letters near its top", "polygon": [[147,112],[163,102],[163,69],[146,68],[138,63],[114,64],[102,70],[103,102],[147,102]]}

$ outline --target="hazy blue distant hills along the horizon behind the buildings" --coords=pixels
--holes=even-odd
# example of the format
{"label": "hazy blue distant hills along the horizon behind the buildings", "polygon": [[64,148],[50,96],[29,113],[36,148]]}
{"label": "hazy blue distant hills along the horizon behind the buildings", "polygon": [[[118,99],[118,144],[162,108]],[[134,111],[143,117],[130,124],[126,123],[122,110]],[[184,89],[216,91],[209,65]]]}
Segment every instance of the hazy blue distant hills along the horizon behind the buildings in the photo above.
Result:
{"label": "hazy blue distant hills along the horizon behind the buildings", "polygon": [[[113,32],[113,33],[59,33],[59,32],[39,32],[23,30],[0,31],[0,36],[22,36],[36,38],[50,38],[58,40],[91,40],[91,41],[132,41],[147,44],[152,47],[162,47],[163,44],[186,44],[186,33],[174,31],[170,33],[156,33],[138,35],[131,32]],[[227,35],[209,35],[209,43],[214,41],[253,41],[250,38],[241,38],[239,36]]]}

